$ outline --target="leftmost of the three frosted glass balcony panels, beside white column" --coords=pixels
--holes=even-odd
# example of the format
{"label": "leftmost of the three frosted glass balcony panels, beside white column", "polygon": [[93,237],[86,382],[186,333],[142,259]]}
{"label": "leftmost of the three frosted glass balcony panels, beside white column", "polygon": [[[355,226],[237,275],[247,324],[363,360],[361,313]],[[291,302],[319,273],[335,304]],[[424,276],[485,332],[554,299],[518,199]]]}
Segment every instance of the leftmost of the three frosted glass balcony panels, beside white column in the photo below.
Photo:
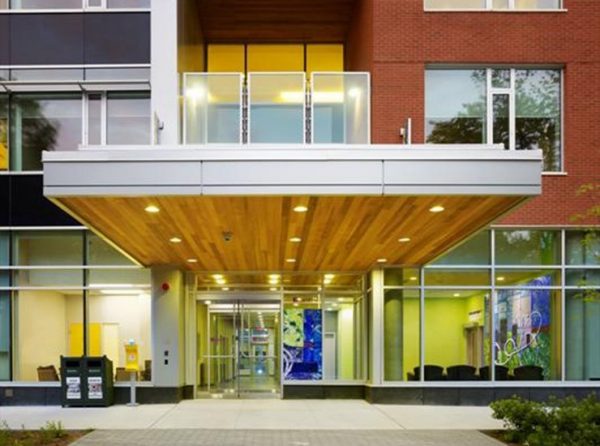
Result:
{"label": "leftmost of the three frosted glass balcony panels, beside white column", "polygon": [[242,75],[185,77],[185,143],[241,143]]}

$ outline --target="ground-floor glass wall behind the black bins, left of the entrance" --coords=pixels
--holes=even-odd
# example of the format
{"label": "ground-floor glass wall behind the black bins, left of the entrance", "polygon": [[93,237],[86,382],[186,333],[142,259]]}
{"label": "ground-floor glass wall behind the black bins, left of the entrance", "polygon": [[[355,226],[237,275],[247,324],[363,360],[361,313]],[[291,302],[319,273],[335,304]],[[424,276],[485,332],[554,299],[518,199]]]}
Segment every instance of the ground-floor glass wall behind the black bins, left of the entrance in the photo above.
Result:
{"label": "ground-floor glass wall behind the black bins, left of the entrance", "polygon": [[12,274],[3,269],[0,275],[11,286],[0,284],[0,293],[12,294],[6,300],[14,334],[6,345],[8,303],[0,294],[0,373],[3,346],[12,347],[13,357],[12,376],[2,379],[58,381],[60,356],[84,352],[107,355],[115,378],[124,379],[124,344],[131,339],[140,346],[139,379],[151,379],[148,270],[83,230],[0,232],[0,240],[12,245],[4,249],[12,252]]}

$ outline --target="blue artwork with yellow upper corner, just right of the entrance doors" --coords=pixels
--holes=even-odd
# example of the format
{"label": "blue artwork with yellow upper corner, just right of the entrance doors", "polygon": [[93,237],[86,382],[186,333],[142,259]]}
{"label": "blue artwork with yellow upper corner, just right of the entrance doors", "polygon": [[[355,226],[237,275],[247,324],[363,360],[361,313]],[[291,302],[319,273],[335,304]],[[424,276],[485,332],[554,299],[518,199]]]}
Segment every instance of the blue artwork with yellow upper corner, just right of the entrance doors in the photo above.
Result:
{"label": "blue artwork with yellow upper corner, just right of the entrance doors", "polygon": [[323,377],[321,310],[283,312],[284,378],[318,380]]}

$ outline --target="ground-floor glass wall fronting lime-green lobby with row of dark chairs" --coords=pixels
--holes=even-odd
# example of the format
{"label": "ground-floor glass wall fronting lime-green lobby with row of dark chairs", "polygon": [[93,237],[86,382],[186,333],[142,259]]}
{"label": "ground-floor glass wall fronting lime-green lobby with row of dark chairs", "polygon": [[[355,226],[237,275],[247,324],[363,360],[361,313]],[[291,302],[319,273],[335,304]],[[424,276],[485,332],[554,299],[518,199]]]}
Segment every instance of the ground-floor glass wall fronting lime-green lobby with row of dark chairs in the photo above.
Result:
{"label": "ground-floor glass wall fronting lime-green lobby with row of dark chairs", "polygon": [[384,270],[386,381],[600,376],[596,233],[484,231],[418,272]]}

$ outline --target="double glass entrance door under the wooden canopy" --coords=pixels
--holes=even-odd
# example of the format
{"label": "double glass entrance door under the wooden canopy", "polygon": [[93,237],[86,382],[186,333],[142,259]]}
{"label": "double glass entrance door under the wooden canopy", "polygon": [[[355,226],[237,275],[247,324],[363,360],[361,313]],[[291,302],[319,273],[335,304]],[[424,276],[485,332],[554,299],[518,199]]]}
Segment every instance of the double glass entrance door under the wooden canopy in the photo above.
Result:
{"label": "double glass entrance door under the wooden canopy", "polygon": [[[221,300],[206,306],[205,390],[213,397],[279,397],[280,304]],[[200,335],[201,336],[201,335]]]}

